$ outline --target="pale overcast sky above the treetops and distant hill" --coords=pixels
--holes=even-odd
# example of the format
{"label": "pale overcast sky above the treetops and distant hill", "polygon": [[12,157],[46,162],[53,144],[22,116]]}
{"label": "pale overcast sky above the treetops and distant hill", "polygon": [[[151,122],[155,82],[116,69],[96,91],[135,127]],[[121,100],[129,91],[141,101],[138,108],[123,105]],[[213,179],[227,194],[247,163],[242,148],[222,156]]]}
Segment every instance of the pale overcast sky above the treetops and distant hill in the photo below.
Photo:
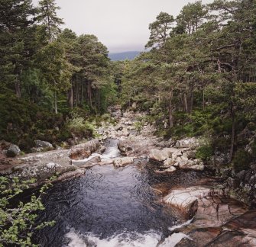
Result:
{"label": "pale overcast sky above the treetops and distant hill", "polygon": [[[33,0],[36,5],[38,0]],[[95,34],[111,53],[144,50],[148,24],[160,11],[179,14],[193,0],[56,0],[64,27],[76,34]],[[209,3],[212,0],[203,0]]]}

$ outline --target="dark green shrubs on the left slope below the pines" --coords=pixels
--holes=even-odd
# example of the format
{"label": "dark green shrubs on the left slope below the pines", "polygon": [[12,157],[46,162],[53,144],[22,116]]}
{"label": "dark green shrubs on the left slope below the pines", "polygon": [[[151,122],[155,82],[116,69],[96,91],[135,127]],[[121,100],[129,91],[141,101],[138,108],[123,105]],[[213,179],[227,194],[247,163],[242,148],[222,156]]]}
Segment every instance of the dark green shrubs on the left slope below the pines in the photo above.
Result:
{"label": "dark green shrubs on the left slope below the pines", "polygon": [[0,95],[0,136],[16,143],[23,151],[29,151],[37,139],[50,143],[61,140],[63,128],[64,121],[60,114],[49,113],[9,91]]}

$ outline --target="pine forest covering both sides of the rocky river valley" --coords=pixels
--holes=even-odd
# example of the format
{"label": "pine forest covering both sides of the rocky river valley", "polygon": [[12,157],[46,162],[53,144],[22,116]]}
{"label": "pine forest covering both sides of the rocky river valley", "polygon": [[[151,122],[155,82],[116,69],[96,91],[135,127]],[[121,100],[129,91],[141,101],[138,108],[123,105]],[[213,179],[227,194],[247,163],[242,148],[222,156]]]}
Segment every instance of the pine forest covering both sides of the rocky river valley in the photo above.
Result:
{"label": "pine forest covering both sides of the rocky river valley", "polygon": [[[35,140],[66,149],[99,137],[96,127],[115,123],[109,108],[118,105],[122,114],[145,114],[138,132],[146,122],[164,140],[203,137],[196,158],[217,172],[251,169],[255,0],[196,1],[176,17],[163,10],[148,26],[145,50],[115,62],[95,35],[62,29],[58,9],[54,0],[0,0],[0,140],[18,145],[22,155]],[[43,206],[34,200],[31,207]]]}

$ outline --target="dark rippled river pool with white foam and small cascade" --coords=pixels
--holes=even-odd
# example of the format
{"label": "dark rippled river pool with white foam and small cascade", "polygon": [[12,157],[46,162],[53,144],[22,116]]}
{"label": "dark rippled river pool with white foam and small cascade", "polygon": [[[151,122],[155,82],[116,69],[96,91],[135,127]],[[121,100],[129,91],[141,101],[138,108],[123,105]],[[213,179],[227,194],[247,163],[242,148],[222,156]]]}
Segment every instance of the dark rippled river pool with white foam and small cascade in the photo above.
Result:
{"label": "dark rippled river pool with white foam and small cascade", "polygon": [[[117,140],[106,146],[102,159],[119,155]],[[40,220],[57,223],[38,232],[37,242],[54,247],[173,246],[183,233],[171,235],[170,227],[181,221],[155,192],[193,184],[200,177],[199,172],[157,175],[147,162],[124,168],[96,165],[86,175],[50,188]]]}

